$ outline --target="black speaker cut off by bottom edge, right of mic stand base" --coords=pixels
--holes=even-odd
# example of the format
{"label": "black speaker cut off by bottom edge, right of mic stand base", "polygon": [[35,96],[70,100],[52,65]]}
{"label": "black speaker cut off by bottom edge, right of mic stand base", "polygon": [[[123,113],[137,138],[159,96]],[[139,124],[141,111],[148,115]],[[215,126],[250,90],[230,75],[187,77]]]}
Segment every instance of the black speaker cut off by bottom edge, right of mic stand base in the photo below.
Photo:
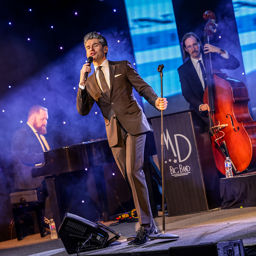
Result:
{"label": "black speaker cut off by bottom edge, right of mic stand base", "polygon": [[169,256],[245,256],[242,240],[177,246],[168,249]]}

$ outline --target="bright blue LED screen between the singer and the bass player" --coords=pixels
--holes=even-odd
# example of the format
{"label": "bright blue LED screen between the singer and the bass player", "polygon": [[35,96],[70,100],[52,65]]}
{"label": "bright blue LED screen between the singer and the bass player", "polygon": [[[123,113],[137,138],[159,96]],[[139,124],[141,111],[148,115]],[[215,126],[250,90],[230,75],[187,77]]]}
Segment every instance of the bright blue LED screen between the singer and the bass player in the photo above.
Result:
{"label": "bright blue LED screen between the singer and the bass player", "polygon": [[[160,96],[157,67],[164,64],[164,97],[180,94],[177,68],[183,64],[183,61],[172,1],[125,0],[124,2],[138,73]],[[143,99],[143,103],[145,102]]]}

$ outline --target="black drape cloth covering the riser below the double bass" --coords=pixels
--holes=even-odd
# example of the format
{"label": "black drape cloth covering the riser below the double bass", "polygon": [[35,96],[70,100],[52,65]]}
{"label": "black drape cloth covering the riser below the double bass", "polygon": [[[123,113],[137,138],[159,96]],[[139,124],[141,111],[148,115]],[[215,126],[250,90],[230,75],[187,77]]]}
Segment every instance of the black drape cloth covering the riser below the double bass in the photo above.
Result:
{"label": "black drape cloth covering the riser below the double bass", "polygon": [[221,209],[256,206],[256,175],[220,179]]}

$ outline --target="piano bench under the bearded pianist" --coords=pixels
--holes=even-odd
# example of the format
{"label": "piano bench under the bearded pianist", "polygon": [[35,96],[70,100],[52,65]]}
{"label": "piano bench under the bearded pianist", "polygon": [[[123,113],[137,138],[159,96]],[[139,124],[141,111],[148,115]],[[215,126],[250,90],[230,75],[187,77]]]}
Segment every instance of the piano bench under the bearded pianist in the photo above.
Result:
{"label": "piano bench under the bearded pianist", "polygon": [[20,225],[20,217],[26,212],[35,211],[38,227],[41,237],[45,237],[44,227],[42,224],[43,216],[42,210],[45,209],[45,202],[39,202],[37,200],[36,190],[25,190],[20,192],[15,192],[10,194],[11,204],[14,205],[13,208],[13,218],[15,223],[15,229],[18,241],[22,240],[22,227]]}

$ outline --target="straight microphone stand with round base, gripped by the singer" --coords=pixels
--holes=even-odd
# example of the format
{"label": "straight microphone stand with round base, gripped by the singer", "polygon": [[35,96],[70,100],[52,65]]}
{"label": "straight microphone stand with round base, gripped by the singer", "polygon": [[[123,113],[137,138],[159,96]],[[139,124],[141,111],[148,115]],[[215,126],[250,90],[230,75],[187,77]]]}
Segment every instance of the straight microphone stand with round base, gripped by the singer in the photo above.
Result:
{"label": "straight microphone stand with round base, gripped by the singer", "polygon": [[[161,78],[161,98],[163,98],[163,68],[164,65],[159,65],[157,71],[160,73]],[[149,237],[149,239],[178,239],[178,235],[165,233],[165,189],[164,189],[164,123],[163,123],[163,110],[161,110],[161,147],[162,147],[162,208],[163,208],[163,231],[162,234],[154,234]]]}

